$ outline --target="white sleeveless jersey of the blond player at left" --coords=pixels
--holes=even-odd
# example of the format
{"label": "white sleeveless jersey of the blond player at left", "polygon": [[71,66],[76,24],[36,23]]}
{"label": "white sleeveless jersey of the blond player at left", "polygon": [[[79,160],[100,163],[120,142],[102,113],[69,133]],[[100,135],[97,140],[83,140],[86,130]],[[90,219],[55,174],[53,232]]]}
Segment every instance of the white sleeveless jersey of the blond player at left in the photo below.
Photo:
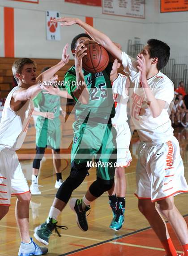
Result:
{"label": "white sleeveless jersey of the blond player at left", "polygon": [[18,86],[7,96],[0,122],[0,145],[13,150],[21,148],[34,110],[32,100],[27,100],[16,112],[10,108],[10,101],[16,90],[19,90]]}

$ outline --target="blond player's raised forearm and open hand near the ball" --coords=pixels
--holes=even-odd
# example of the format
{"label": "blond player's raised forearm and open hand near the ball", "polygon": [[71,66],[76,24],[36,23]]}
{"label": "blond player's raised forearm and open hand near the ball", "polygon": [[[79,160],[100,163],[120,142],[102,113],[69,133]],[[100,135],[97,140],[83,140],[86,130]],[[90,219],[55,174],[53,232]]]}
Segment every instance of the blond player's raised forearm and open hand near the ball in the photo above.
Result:
{"label": "blond player's raised forearm and open hand near the ball", "polygon": [[38,81],[49,81],[50,78],[56,74],[56,72],[58,70],[60,70],[64,65],[66,65],[69,61],[69,54],[67,54],[67,49],[68,49],[68,44],[66,44],[64,46],[63,49],[63,53],[62,53],[62,58],[61,61],[59,63],[57,63],[55,66],[47,69],[46,71],[44,71],[43,73],[41,73],[38,77],[37,77],[37,82]]}

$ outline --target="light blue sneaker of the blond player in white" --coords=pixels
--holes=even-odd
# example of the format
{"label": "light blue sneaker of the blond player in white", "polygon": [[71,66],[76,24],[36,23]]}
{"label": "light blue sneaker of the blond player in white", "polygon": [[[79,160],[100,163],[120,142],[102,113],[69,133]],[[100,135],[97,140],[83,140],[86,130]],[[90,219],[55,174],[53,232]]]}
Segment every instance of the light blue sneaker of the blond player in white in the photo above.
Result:
{"label": "light blue sneaker of the blond player in white", "polygon": [[46,247],[40,247],[31,239],[30,243],[22,243],[20,244],[20,249],[18,252],[18,256],[30,256],[30,255],[44,255],[47,253]]}

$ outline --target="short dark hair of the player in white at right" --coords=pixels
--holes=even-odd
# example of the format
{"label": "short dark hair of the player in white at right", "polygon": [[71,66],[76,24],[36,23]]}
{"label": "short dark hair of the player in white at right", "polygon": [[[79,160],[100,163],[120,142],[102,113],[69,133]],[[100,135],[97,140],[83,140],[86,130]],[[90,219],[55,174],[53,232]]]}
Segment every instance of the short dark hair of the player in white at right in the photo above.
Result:
{"label": "short dark hair of the player in white at right", "polygon": [[167,65],[170,57],[170,47],[157,39],[149,39],[147,44],[150,47],[150,58],[158,58],[157,69],[158,71]]}

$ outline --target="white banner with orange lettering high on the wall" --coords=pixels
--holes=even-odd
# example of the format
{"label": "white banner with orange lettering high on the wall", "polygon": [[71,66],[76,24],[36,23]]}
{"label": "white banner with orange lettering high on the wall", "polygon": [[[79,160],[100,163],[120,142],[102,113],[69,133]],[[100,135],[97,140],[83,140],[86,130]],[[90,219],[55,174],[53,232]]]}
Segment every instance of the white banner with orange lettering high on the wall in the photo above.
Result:
{"label": "white banner with orange lettering high on the wall", "polygon": [[145,18],[145,0],[103,0],[103,14]]}

